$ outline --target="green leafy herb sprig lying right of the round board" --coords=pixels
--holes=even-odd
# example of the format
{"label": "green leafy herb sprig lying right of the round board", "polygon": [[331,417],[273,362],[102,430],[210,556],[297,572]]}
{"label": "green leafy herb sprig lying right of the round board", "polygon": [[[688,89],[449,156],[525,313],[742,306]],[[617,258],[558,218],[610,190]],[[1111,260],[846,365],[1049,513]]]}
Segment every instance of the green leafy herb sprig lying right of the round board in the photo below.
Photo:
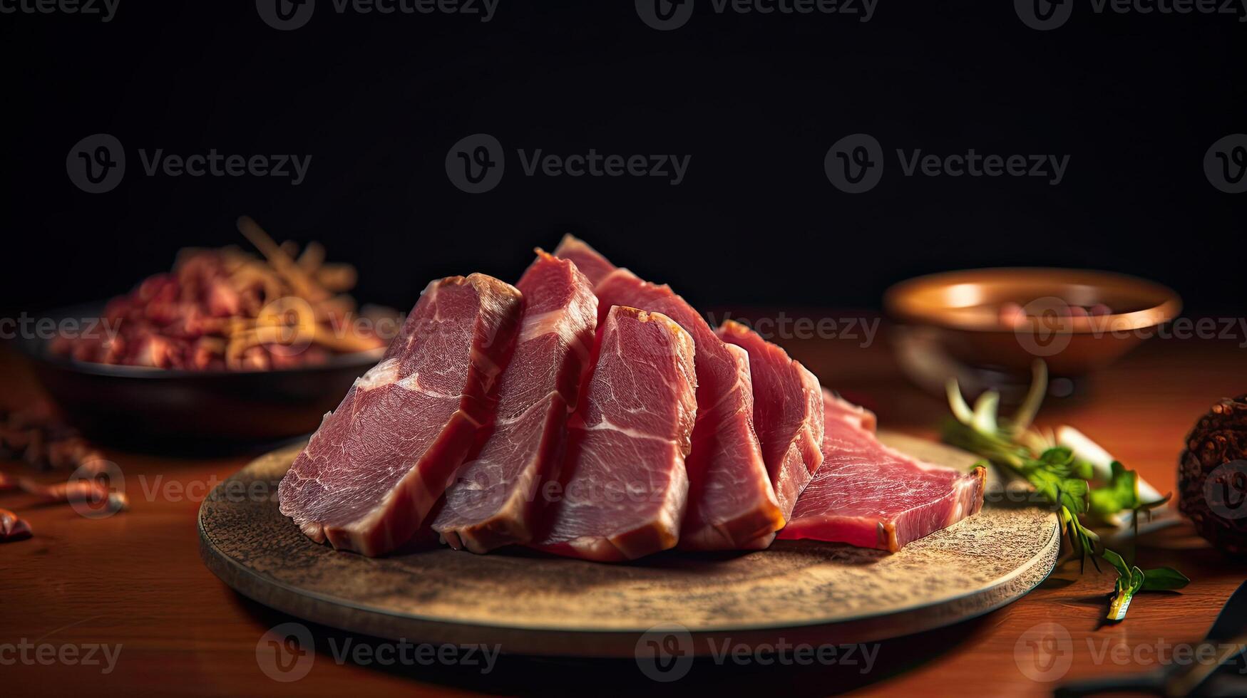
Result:
{"label": "green leafy herb sprig lying right of the round board", "polygon": [[1107,482],[1091,487],[1095,469],[1076,456],[1072,449],[1056,445],[1050,435],[1031,429],[1039,406],[1047,393],[1047,366],[1035,361],[1034,379],[1021,406],[1013,419],[998,415],[1000,394],[988,390],[971,409],[961,396],[956,379],[948,381],[948,403],[953,418],[945,423],[944,441],[978,454],[988,461],[1026,480],[1045,500],[1059,507],[1061,532],[1070,548],[1079,555],[1080,568],[1087,558],[1100,570],[1099,557],[1117,571],[1114,597],[1109,603],[1110,621],[1121,621],[1135,593],[1168,591],[1185,587],[1191,580],[1172,567],[1140,570],[1127,565],[1117,552],[1105,547],[1100,536],[1084,524],[1109,522],[1124,512],[1132,514],[1137,533],[1139,519],[1168,501],[1165,496],[1143,502],[1139,497],[1139,474],[1112,461]]}

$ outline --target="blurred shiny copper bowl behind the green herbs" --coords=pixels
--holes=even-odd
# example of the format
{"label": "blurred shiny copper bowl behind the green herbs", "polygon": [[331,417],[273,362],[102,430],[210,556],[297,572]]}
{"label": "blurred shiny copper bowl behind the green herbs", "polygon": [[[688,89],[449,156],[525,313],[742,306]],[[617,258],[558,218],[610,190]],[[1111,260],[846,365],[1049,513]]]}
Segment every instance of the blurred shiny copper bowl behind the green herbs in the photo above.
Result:
{"label": "blurred shiny copper bowl behind the green herbs", "polygon": [[[995,268],[902,282],[884,307],[966,365],[1025,373],[1040,358],[1056,375],[1080,376],[1156,334],[1182,300],[1161,284],[1111,272]],[[1085,313],[1094,307],[1102,314]]]}

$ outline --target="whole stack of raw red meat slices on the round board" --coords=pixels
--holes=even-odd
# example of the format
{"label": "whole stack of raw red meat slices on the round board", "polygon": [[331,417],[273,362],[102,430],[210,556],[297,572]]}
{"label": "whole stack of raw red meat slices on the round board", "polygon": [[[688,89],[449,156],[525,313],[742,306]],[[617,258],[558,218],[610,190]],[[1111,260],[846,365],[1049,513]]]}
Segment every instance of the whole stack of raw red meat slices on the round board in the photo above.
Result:
{"label": "whole stack of raw red meat slices on the round board", "polygon": [[581,241],[519,287],[429,284],[282,480],[282,514],[364,555],[436,531],[624,561],[777,535],[895,551],[983,505],[983,469],[884,446],[783,349]]}

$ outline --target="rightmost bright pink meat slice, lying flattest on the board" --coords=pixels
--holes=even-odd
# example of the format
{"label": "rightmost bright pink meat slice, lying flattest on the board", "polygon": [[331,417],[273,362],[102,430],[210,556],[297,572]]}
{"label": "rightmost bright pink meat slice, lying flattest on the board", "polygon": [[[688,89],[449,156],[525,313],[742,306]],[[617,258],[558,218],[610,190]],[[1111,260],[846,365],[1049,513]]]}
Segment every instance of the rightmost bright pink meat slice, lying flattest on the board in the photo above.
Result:
{"label": "rightmost bright pink meat slice, lying flattest on the board", "polygon": [[964,474],[880,444],[874,415],[823,391],[823,465],[781,538],[895,552],[983,509],[986,471]]}

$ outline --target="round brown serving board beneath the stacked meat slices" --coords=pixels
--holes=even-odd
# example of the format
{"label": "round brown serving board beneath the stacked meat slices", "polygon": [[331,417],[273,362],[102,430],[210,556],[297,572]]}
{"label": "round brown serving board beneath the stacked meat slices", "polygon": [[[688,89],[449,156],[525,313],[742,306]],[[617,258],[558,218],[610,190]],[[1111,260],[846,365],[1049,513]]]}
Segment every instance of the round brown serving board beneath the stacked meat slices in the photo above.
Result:
{"label": "round brown serving board beneath the stacked meat slices", "polygon": [[[904,435],[882,437],[961,470],[975,460]],[[370,560],[312,542],[267,496],[298,452],[296,445],[261,457],[203,502],[205,561],[256,601],[390,638],[628,657],[640,633],[678,623],[695,634],[757,631],[759,639],[817,626],[839,642],[868,642],[1014,601],[1047,576],[1059,551],[1051,511],[989,505],[893,555],[777,541],[749,553],[670,551],[627,565],[446,547]],[[242,492],[266,496],[234,496]]]}

